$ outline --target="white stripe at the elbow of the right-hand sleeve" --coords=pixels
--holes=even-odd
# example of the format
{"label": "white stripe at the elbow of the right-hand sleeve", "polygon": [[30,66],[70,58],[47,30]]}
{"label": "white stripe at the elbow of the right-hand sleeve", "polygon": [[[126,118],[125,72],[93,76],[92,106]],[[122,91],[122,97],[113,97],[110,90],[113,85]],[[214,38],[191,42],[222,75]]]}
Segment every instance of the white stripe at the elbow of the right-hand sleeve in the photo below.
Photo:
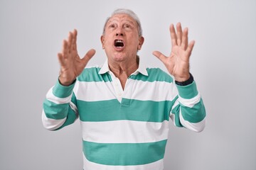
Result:
{"label": "white stripe at the elbow of the right-hand sleeve", "polygon": [[188,128],[189,130],[193,130],[194,132],[201,132],[206,126],[206,118],[201,120],[201,122],[198,123],[190,123],[188,120],[184,120],[181,111],[179,113],[179,118],[181,121],[181,125],[183,125],[185,128]]}

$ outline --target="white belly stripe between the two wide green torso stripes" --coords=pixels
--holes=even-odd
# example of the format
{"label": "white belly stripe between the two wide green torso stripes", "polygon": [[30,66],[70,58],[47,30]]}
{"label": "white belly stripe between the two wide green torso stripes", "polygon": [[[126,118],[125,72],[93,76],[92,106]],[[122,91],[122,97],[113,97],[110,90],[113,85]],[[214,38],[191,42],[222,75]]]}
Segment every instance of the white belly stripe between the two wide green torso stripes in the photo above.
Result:
{"label": "white belly stripe between the two wide green torso stripes", "polygon": [[99,143],[142,143],[167,140],[169,122],[114,120],[82,122],[82,139]]}

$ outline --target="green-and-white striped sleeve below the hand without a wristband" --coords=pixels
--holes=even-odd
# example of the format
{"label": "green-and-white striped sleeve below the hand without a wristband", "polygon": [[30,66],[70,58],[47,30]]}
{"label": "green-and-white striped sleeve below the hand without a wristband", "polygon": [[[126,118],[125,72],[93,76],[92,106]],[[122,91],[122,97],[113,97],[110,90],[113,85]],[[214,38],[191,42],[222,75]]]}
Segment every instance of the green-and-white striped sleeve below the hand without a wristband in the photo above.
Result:
{"label": "green-and-white striped sleeve below the hand without a wristband", "polygon": [[58,130],[75,122],[78,118],[78,109],[75,106],[73,95],[74,84],[62,86],[56,82],[43,101],[42,122],[48,130]]}

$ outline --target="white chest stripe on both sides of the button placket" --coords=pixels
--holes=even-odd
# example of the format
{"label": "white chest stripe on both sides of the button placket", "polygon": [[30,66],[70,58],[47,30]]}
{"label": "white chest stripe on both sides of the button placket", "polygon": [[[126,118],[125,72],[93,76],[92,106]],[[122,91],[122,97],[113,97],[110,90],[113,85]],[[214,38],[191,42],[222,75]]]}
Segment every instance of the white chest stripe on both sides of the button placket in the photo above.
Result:
{"label": "white chest stripe on both sides of the button placket", "polygon": [[[78,81],[74,92],[76,98],[82,101],[105,101],[116,98],[116,92],[110,81]],[[128,79],[123,97],[141,101],[172,101],[177,94],[172,83]]]}

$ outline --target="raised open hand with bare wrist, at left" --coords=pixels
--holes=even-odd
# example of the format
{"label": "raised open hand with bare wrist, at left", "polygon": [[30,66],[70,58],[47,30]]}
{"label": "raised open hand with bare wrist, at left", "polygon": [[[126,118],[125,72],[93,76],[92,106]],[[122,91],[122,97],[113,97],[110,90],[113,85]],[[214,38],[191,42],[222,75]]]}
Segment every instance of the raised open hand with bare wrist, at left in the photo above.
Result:
{"label": "raised open hand with bare wrist, at left", "polygon": [[58,60],[60,62],[60,84],[69,86],[75,81],[82,70],[85,69],[86,64],[95,55],[95,50],[89,50],[85,56],[80,59],[78,55],[76,40],[78,31],[73,30],[68,35],[68,40],[63,40],[62,52],[58,53]]}

